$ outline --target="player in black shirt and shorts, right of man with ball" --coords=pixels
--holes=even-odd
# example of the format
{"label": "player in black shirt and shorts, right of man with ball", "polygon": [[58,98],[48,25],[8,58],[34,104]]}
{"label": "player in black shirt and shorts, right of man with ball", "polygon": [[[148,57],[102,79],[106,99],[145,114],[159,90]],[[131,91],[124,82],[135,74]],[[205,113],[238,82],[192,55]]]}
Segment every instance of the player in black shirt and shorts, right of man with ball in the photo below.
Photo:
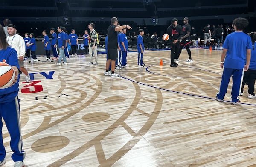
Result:
{"label": "player in black shirt and shorts, right of man with ball", "polygon": [[189,24],[189,18],[185,17],[183,19],[184,25],[182,26],[182,37],[180,38],[180,49],[179,49],[179,54],[178,58],[180,57],[180,53],[183,47],[186,48],[188,54],[189,54],[189,59],[186,62],[192,62],[191,58],[191,51],[189,49],[191,42],[190,42],[190,31],[191,31],[191,26]]}

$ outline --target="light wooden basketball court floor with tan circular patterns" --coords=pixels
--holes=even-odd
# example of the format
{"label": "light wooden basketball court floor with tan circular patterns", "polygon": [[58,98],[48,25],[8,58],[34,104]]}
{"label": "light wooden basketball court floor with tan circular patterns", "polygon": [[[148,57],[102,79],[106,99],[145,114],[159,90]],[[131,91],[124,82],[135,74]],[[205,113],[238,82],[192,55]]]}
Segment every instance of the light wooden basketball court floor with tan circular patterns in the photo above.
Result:
{"label": "light wooden basketball court floor with tan circular patterns", "polygon": [[[256,166],[256,99],[230,105],[215,100],[221,81],[221,50],[186,50],[177,68],[170,50],[137,52],[130,67],[105,76],[89,57],[67,65],[25,63],[31,83],[20,76],[20,108],[26,167],[253,167]],[[163,59],[163,66],[160,66]],[[9,133],[3,127],[6,164],[13,167]]]}

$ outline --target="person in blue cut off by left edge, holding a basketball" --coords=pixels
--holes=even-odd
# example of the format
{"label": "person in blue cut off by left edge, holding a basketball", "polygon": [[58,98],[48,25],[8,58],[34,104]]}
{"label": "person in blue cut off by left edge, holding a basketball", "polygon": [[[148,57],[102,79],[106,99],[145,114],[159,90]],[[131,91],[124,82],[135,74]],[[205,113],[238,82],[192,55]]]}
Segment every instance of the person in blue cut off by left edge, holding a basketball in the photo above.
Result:
{"label": "person in blue cut off by left edge, holding a basketball", "polygon": [[20,130],[19,83],[17,82],[19,74],[18,68],[20,67],[17,56],[17,51],[9,47],[3,27],[0,25],[0,61],[11,65],[16,74],[15,80],[10,87],[0,89],[0,166],[6,162],[6,150],[3,145],[2,119],[11,137],[10,147],[12,148],[12,160],[15,162],[15,167],[24,167],[23,160],[26,156],[26,152],[22,150]]}

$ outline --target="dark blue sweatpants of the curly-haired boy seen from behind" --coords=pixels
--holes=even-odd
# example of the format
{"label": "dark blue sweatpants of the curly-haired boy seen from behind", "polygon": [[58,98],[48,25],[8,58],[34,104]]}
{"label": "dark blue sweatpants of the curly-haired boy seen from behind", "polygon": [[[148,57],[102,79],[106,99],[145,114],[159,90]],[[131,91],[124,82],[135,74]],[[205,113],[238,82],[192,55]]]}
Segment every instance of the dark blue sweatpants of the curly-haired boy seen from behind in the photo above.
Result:
{"label": "dark blue sweatpants of the curly-haired boy seen from behind", "polygon": [[225,94],[227,93],[227,87],[230,82],[230,77],[232,76],[232,91],[231,91],[231,102],[238,102],[239,90],[241,85],[243,69],[232,69],[225,68],[223,69],[223,74],[221,77],[221,85],[219,93],[217,94],[218,99],[224,99]]}

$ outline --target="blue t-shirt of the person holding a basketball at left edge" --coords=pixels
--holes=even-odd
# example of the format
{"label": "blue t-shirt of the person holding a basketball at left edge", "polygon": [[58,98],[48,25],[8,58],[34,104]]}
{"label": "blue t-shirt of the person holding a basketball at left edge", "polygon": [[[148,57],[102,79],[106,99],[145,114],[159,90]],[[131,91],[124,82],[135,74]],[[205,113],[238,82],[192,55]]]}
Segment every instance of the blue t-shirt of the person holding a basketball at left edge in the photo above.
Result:
{"label": "blue t-shirt of the person holding a basketball at left edge", "polygon": [[[17,59],[17,51],[14,48],[7,47],[6,50],[0,50],[0,62],[6,60],[6,63],[11,66],[16,66],[20,68],[18,59]],[[16,82],[11,87],[0,89],[0,103],[11,102],[18,95],[19,92],[19,83]]]}

